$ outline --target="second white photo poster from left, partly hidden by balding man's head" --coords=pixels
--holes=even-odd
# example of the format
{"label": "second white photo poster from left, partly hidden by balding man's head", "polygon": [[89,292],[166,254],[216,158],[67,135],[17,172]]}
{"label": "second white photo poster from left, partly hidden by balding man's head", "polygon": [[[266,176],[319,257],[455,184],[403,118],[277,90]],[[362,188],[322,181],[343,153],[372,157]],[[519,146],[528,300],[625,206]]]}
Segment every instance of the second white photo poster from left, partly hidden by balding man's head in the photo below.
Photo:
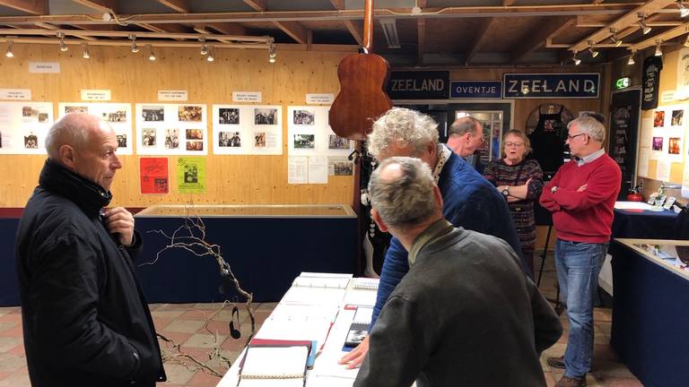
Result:
{"label": "second white photo poster from left, partly hidden by balding man's head", "polygon": [[60,102],[57,104],[58,117],[65,116],[71,112],[82,112],[99,116],[112,127],[115,135],[118,136],[118,154],[134,154],[131,104],[96,102]]}

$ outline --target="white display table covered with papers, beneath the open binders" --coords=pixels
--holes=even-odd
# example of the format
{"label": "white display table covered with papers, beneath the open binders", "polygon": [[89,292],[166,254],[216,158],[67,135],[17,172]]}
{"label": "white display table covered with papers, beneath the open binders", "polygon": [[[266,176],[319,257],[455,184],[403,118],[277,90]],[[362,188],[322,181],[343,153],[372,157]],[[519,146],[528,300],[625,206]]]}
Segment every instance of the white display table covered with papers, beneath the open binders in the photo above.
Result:
{"label": "white display table covered with papers, beneath the open binders", "polygon": [[[292,286],[257,331],[256,338],[264,340],[318,340],[320,349],[313,367],[306,374],[305,387],[351,387],[359,372],[358,368],[348,370],[337,364],[337,360],[346,353],[343,346],[357,305],[372,308],[376,301],[375,289],[355,289],[355,280],[350,280],[342,289]],[[332,308],[335,313],[328,314]],[[299,309],[300,312],[294,312]],[[291,316],[286,314],[288,310],[292,311]],[[324,318],[325,315],[333,316],[334,320]],[[305,326],[307,324],[310,326]],[[246,348],[222,377],[218,387],[237,386],[240,361],[245,351]]]}

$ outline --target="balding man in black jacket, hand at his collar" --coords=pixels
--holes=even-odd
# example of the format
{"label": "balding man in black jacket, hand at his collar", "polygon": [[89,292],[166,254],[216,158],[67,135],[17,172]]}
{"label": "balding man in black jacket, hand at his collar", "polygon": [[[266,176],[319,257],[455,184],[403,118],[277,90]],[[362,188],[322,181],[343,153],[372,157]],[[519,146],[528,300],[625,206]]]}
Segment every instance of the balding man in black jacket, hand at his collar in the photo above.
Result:
{"label": "balding man in black jacket, hand at his collar", "polygon": [[33,386],[153,386],[166,380],[133,259],[134,217],[103,211],[115,132],[70,113],[50,128],[48,159],[16,241],[24,348]]}

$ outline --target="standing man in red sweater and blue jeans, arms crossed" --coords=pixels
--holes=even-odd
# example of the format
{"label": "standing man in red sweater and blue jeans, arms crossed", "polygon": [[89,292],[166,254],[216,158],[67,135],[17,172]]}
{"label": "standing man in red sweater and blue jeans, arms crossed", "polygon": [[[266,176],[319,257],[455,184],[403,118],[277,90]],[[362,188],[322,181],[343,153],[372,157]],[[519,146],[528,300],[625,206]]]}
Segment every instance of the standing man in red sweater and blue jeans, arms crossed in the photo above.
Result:
{"label": "standing man in red sweater and blue jeans, arms crossed", "polygon": [[593,353],[593,295],[622,173],[603,149],[603,124],[581,116],[567,128],[572,159],[545,185],[540,198],[541,205],[553,212],[555,267],[570,323],[564,356],[548,358],[548,365],[565,370],[557,387],[582,387]]}

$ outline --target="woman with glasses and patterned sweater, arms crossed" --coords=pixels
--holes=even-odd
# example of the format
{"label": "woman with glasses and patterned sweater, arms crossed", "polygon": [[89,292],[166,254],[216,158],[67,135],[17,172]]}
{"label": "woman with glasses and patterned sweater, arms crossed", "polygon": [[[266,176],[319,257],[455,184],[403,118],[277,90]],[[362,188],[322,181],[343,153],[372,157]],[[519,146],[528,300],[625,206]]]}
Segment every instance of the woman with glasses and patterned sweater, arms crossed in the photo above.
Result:
{"label": "woman with glasses and patterned sweater, arms crossed", "polygon": [[536,220],[534,202],[543,189],[543,171],[535,159],[524,159],[531,151],[526,134],[510,129],[502,136],[503,159],[493,159],[484,169],[484,177],[495,185],[510,206],[517,226],[521,254],[534,277]]}

